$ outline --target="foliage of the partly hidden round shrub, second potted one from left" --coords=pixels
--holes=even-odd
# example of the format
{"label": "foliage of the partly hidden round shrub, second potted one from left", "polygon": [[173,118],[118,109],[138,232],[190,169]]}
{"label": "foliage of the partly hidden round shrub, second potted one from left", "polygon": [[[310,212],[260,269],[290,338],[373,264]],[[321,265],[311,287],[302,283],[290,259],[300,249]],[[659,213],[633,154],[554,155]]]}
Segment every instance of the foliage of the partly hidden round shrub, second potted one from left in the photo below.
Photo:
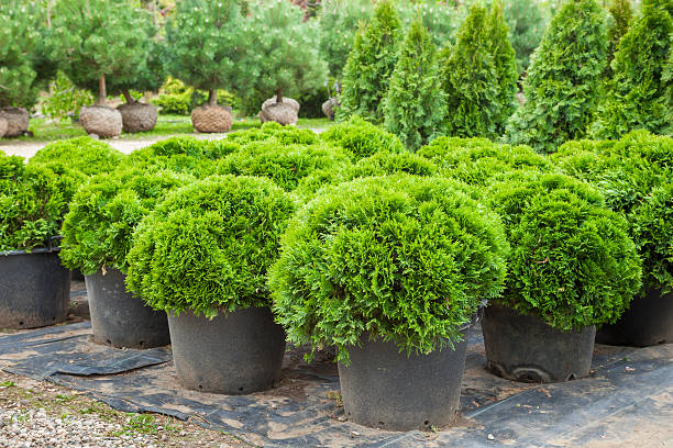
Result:
{"label": "foliage of the partly hidden round shrub, second potted one from left", "polygon": [[92,177],[75,195],[63,223],[63,264],[86,275],[99,269],[125,272],[135,227],[169,190],[194,180],[147,166]]}

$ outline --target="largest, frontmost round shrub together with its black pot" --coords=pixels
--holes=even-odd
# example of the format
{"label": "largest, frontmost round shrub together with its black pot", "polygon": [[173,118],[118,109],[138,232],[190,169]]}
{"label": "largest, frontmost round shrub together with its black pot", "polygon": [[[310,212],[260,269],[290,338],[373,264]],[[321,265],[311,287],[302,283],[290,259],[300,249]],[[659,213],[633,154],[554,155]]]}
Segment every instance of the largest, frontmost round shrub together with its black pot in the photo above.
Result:
{"label": "largest, frontmost round shrub together with its black pot", "polygon": [[288,225],[269,276],[274,310],[290,341],[338,348],[355,423],[429,430],[455,417],[468,324],[499,292],[508,251],[499,217],[466,189],[357,179]]}

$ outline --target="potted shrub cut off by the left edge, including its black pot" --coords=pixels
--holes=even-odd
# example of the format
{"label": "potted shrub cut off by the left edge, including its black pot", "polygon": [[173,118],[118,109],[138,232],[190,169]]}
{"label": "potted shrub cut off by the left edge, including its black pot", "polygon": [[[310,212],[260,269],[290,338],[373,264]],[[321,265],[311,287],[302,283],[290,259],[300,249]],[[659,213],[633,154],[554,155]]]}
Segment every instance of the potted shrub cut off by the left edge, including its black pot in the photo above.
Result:
{"label": "potted shrub cut off by the left edge, including its black pot", "polygon": [[70,272],[58,259],[58,229],[81,181],[62,165],[25,166],[0,152],[0,328],[66,320]]}

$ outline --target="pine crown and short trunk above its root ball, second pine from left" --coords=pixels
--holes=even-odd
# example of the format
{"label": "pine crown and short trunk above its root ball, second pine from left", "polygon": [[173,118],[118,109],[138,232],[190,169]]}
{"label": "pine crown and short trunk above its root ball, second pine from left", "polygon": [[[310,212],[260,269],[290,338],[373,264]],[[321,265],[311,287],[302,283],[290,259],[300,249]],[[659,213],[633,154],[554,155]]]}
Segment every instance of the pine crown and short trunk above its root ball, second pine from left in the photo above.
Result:
{"label": "pine crown and short trunk above its root ball, second pine from left", "polygon": [[52,30],[60,69],[77,87],[98,86],[98,104],[108,79],[111,86],[134,80],[154,34],[148,12],[130,0],[58,0]]}

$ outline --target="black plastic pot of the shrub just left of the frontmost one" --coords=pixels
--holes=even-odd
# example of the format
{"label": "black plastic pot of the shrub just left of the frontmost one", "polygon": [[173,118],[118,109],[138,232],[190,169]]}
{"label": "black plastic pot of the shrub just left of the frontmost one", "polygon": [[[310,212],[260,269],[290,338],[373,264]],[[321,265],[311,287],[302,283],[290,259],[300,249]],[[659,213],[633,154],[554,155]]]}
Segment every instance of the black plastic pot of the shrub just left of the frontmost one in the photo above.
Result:
{"label": "black plastic pot of the shrub just left of the frontmost one", "polygon": [[180,384],[240,395],[269,389],[280,378],[285,332],[268,307],[218,314],[168,314],[173,359]]}

